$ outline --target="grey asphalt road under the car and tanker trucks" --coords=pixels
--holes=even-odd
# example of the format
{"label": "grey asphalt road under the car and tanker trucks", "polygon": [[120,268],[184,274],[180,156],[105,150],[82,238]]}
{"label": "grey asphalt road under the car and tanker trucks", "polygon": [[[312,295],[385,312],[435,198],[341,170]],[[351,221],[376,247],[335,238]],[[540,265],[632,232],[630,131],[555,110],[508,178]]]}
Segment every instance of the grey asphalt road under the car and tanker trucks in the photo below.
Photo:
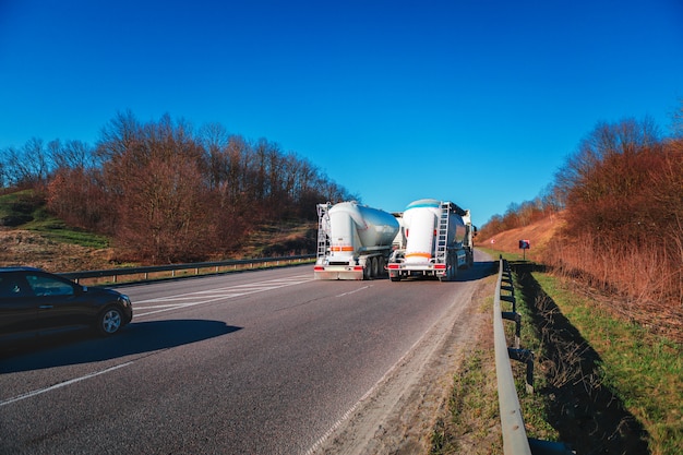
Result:
{"label": "grey asphalt road under the car and tanker trucks", "polygon": [[0,358],[0,454],[307,454],[446,315],[456,282],[312,266],[119,287],[133,323]]}

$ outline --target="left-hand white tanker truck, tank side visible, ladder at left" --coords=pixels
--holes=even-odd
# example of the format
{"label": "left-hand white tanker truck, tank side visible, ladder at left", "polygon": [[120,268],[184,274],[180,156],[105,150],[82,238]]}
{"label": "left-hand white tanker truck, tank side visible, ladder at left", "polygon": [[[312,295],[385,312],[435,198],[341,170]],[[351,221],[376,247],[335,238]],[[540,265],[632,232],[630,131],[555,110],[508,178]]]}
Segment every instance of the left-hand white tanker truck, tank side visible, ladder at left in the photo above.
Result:
{"label": "left-hand white tanker truck, tank side visible, ladder at left", "polygon": [[394,215],[356,201],[317,204],[315,279],[370,279],[385,274],[392,241],[398,232]]}

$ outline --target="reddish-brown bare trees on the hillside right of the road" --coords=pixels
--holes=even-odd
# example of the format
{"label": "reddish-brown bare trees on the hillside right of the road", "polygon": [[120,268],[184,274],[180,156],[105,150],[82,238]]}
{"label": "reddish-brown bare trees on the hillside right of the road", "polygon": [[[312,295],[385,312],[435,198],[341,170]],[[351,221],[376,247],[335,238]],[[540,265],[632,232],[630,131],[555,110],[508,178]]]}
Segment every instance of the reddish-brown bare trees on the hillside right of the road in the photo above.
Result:
{"label": "reddish-brown bare trees on the hillside right of the road", "polygon": [[[646,119],[599,123],[544,195],[511,205],[483,238],[563,212],[541,260],[628,299],[683,306],[683,108],[673,137]],[[642,311],[647,312],[647,310]]]}

